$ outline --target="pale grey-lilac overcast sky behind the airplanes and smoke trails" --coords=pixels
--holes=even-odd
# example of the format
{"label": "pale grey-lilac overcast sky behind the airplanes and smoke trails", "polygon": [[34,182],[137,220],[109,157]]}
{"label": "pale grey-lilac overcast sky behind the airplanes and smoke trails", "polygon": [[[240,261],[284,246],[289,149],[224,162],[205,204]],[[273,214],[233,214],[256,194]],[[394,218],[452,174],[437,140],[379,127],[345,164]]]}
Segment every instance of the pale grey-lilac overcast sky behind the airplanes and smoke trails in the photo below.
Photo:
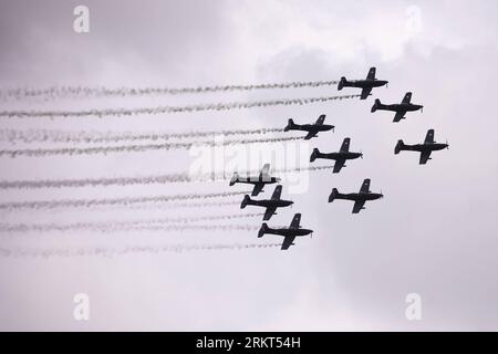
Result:
{"label": "pale grey-lilac overcast sky behind the airplanes and smoke trails", "polygon": [[[90,33],[73,31],[73,9],[90,9]],[[174,87],[362,79],[370,66],[388,88],[366,101],[115,118],[7,119],[1,128],[186,132],[282,127],[326,114],[335,132],[300,143],[308,154],[339,149],[351,137],[364,158],[339,175],[310,173],[304,190],[284,185],[313,238],[272,249],[0,259],[1,330],[498,330],[498,80],[494,1],[7,1],[0,0],[0,86]],[[392,123],[370,112],[374,98],[407,92],[424,112]],[[344,88],[341,94],[356,93]],[[3,110],[96,108],[272,100],[338,94],[336,87],[251,93],[2,102]],[[397,139],[422,143],[428,128],[449,150],[425,166],[394,155]],[[281,135],[279,135],[281,136]],[[2,145],[6,146],[6,145]],[[295,143],[284,145],[292,154]],[[293,146],[293,147],[292,147]],[[269,146],[267,145],[266,148]],[[280,146],[281,148],[281,146]],[[289,158],[289,156],[287,156]],[[293,155],[290,155],[293,159]],[[301,157],[308,159],[308,155]],[[10,159],[2,180],[142,176],[187,171],[184,150]],[[252,163],[252,162],[251,162]],[[283,166],[279,160],[277,165]],[[259,160],[253,164],[259,165]],[[356,191],[364,178],[384,199],[352,215],[328,204],[333,187]],[[245,190],[225,183],[2,190],[0,201]],[[268,197],[272,188],[267,188]],[[237,199],[237,198],[236,198]],[[230,199],[234,200],[234,199]],[[2,222],[76,222],[138,217],[256,212],[237,205],[206,209],[18,211]],[[259,218],[230,220],[258,226]],[[218,222],[219,223],[219,222]],[[256,243],[255,231],[89,232],[1,236],[2,248]],[[73,319],[87,293],[91,320]],[[422,296],[422,320],[407,321],[405,296]]]}

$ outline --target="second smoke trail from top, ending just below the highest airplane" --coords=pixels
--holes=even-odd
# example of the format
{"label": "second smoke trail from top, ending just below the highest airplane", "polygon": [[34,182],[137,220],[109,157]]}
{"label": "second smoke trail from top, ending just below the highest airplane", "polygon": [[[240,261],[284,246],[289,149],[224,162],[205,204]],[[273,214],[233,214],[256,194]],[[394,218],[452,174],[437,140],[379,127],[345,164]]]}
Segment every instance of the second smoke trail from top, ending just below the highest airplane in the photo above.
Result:
{"label": "second smoke trail from top, ending just below the highest airplane", "polygon": [[156,115],[156,114],[172,114],[184,112],[203,112],[203,111],[228,111],[242,110],[253,107],[269,107],[269,106],[288,106],[288,105],[304,105],[312,103],[325,103],[335,100],[347,100],[360,97],[361,95],[339,95],[326,97],[307,97],[307,98],[282,98],[272,101],[256,101],[256,102],[229,102],[229,103],[211,103],[197,104],[187,106],[158,106],[158,107],[141,107],[141,108],[107,108],[107,110],[86,110],[86,111],[0,111],[0,117],[9,118],[29,118],[29,117],[104,117],[104,116],[132,116],[132,115]]}

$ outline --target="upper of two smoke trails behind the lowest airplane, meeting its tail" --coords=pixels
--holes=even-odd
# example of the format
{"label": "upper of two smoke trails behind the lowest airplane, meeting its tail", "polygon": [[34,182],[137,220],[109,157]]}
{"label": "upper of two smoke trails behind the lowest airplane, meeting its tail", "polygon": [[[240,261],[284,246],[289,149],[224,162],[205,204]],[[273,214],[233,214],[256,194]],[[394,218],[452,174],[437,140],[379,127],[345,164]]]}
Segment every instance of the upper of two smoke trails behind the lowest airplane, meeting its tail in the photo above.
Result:
{"label": "upper of two smoke trails behind the lowest airplane, meeting its tail", "polygon": [[[242,215],[243,216],[243,215]],[[252,217],[252,215],[251,215]],[[231,217],[231,218],[235,218]],[[255,231],[259,226],[252,225],[181,225],[174,221],[170,225],[165,222],[148,221],[115,221],[115,222],[75,222],[75,223],[0,223],[0,232],[65,232],[65,231],[90,231],[113,233],[116,231]],[[195,221],[195,220],[194,220]],[[176,222],[176,223],[175,223]]]}

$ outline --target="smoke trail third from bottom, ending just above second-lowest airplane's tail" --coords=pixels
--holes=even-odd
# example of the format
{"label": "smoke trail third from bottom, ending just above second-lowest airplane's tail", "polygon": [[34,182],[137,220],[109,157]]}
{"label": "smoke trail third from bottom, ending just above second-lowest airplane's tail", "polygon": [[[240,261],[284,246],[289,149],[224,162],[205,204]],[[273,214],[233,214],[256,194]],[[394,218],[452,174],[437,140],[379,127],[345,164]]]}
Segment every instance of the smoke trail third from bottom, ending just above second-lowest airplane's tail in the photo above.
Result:
{"label": "smoke trail third from bottom, ending just above second-lowest airplane's tail", "polygon": [[[101,198],[101,199],[60,199],[60,200],[34,200],[34,201],[12,201],[1,202],[0,210],[18,210],[18,209],[54,209],[54,208],[92,208],[98,206],[129,206],[146,202],[170,202],[177,200],[196,200],[232,197],[249,191],[222,191],[209,194],[184,194],[184,195],[165,195],[151,197],[123,197],[123,198]],[[177,204],[178,205],[178,204]],[[201,206],[204,204],[200,204]]]}

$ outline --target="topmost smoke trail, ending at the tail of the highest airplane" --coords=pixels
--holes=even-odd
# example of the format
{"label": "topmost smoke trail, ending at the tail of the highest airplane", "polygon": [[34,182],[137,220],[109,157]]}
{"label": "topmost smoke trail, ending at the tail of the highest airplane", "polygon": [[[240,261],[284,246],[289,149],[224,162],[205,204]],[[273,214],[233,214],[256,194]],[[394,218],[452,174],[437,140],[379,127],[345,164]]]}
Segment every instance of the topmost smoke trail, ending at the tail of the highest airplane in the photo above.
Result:
{"label": "topmost smoke trail, ending at the tail of the highest airplane", "polygon": [[89,87],[89,86],[52,86],[46,88],[10,88],[0,91],[0,97],[7,98],[29,98],[43,97],[50,98],[75,98],[75,97],[124,97],[124,96],[146,96],[146,95],[180,95],[212,92],[230,91],[253,91],[270,88],[299,88],[299,87],[320,87],[336,85],[339,81],[293,81],[287,83],[268,83],[256,85],[218,85],[199,87]]}

